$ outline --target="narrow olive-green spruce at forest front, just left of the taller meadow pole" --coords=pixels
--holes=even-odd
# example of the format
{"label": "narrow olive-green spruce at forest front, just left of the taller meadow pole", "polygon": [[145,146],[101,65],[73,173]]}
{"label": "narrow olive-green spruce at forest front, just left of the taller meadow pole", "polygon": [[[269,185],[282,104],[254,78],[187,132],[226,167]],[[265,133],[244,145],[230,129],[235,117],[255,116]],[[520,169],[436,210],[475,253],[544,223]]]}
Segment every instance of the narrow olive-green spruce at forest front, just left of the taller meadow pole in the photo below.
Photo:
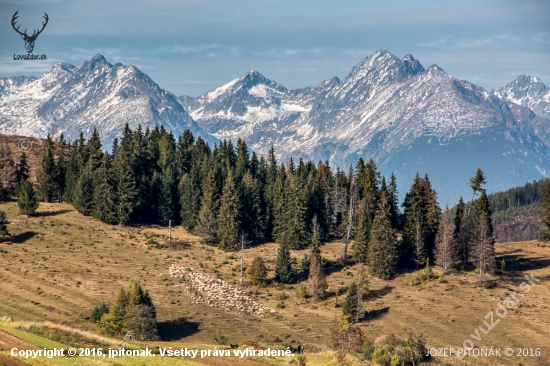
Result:
{"label": "narrow olive-green spruce at forest front, just left of the taller meadow pole", "polygon": [[220,199],[220,213],[217,217],[220,248],[225,251],[234,251],[238,248],[239,208],[240,203],[235,183],[233,182],[233,175],[229,172],[223,187]]}

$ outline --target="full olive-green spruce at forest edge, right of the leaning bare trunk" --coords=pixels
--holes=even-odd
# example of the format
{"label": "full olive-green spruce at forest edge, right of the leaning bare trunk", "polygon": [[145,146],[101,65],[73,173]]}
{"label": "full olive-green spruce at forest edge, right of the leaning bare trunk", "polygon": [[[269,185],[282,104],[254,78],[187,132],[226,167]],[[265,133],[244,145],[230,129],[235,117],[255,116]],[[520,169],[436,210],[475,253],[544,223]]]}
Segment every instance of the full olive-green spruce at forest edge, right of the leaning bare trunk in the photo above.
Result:
{"label": "full olive-green spruce at forest edge, right of the leaning bare trunk", "polygon": [[373,275],[390,278],[397,271],[397,238],[391,226],[390,206],[385,193],[382,193],[378,210],[372,223],[369,244],[369,265]]}

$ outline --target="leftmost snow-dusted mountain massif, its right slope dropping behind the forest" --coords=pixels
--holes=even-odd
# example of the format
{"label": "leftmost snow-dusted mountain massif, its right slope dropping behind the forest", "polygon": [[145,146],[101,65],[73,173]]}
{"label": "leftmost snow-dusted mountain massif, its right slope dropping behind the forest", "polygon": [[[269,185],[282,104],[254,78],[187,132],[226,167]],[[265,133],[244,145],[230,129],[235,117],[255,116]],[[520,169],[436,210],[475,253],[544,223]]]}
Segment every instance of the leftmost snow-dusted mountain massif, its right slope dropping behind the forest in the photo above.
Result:
{"label": "leftmost snow-dusted mountain massif, its right slope dropping behind the forest", "polygon": [[63,132],[75,139],[95,128],[109,146],[129,123],[132,128],[164,125],[175,134],[190,129],[211,143],[176,97],[135,66],[111,65],[101,55],[79,69],[56,64],[40,78],[0,78],[0,133],[44,137]]}

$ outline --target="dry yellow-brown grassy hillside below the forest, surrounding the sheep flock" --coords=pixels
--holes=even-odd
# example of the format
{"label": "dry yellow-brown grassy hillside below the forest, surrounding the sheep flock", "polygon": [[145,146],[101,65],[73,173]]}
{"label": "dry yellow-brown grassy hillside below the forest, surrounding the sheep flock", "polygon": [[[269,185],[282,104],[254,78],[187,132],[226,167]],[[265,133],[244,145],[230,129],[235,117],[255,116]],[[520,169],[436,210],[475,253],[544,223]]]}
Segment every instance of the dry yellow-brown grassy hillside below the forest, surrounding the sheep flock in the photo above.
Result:
{"label": "dry yellow-brown grassy hillside below the forest, surrounding the sheep flock", "polygon": [[[145,344],[127,342],[126,347],[213,348],[211,336],[220,331],[229,337],[230,343],[241,345],[243,342],[257,342],[263,347],[302,344],[308,365],[336,365],[329,348],[329,329],[341,314],[343,295],[312,302],[298,297],[298,284],[265,288],[245,285],[244,291],[254,301],[276,309],[276,314],[263,318],[205,303],[191,304],[191,295],[183,290],[178,278],[170,277],[169,267],[179,264],[236,284],[238,272],[233,269],[240,263],[238,253],[225,253],[201,244],[198,237],[181,227],[173,228],[173,237],[189,246],[172,250],[163,247],[167,228],[109,226],[78,214],[66,204],[41,203],[39,213],[28,220],[17,214],[15,202],[0,204],[0,209],[8,214],[12,234],[11,239],[0,243],[0,317],[11,316],[15,320],[0,323],[0,331],[4,332],[0,332],[0,350],[4,350],[0,351],[0,365],[2,362],[17,364],[7,358],[9,351],[6,351],[10,345],[17,347],[14,346],[17,342],[49,347],[47,342],[52,342],[51,339],[21,330],[29,327],[29,322],[47,321],[50,327],[65,327],[63,332],[76,332],[80,338],[89,338],[90,344],[100,342],[85,333],[94,331],[94,325],[87,319],[90,311],[101,301],[112,302],[118,289],[127,287],[132,278],[150,292],[164,340]],[[269,276],[273,277],[276,248],[276,244],[268,243],[246,249],[245,263],[261,256],[267,261]],[[323,257],[334,261],[326,268],[332,293],[345,290],[358,275],[357,266],[343,267],[335,261],[341,248],[338,242],[322,247]],[[540,282],[536,282],[488,334],[478,332],[482,339],[474,343],[476,347],[512,347],[514,354],[517,348],[540,348],[541,356],[468,357],[463,361],[456,357],[436,357],[430,364],[550,365],[550,247],[535,241],[502,243],[496,245],[496,252],[498,262],[504,258],[507,264],[505,274],[493,276],[496,280],[493,288],[479,287],[474,271],[451,272],[443,276],[444,281],[439,281],[441,273],[435,268],[433,279],[424,285],[409,284],[412,277],[418,276],[415,272],[390,281],[370,278],[369,300],[365,303],[368,316],[361,327],[372,340],[412,327],[425,335],[428,347],[456,349],[465,340],[472,339],[470,335],[484,325],[487,320],[484,317],[494,311],[500,301],[510,293],[521,294],[518,286],[526,281],[524,275],[533,273]],[[305,251],[292,252],[298,262],[304,254]],[[117,340],[101,342],[123,344]],[[291,359],[248,358],[237,363],[286,365]],[[70,363],[74,361],[42,358],[24,362],[65,365],[76,364]],[[351,355],[348,361],[360,362]],[[140,358],[123,357],[115,361],[84,358],[79,362],[164,365],[175,360],[156,358],[154,362],[148,359],[144,363]],[[183,360],[177,362],[185,364]],[[193,362],[235,365],[231,358],[204,358]]]}

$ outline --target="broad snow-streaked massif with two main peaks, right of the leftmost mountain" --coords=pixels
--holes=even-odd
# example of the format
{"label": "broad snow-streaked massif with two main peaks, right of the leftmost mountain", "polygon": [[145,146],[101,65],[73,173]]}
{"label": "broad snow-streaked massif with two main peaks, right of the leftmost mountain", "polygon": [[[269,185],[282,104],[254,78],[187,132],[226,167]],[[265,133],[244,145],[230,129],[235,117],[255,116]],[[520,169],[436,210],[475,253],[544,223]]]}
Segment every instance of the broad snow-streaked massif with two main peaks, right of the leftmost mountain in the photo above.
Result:
{"label": "broad snow-streaked massif with two main peaks, right of the leftmost mountain", "polygon": [[481,166],[492,191],[550,172],[550,121],[457,80],[436,65],[388,51],[365,58],[343,79],[287,90],[256,71],[197,98],[190,115],[220,139],[243,138],[266,153],[346,167],[373,158],[396,172],[401,193],[428,173],[442,201],[468,193]]}

